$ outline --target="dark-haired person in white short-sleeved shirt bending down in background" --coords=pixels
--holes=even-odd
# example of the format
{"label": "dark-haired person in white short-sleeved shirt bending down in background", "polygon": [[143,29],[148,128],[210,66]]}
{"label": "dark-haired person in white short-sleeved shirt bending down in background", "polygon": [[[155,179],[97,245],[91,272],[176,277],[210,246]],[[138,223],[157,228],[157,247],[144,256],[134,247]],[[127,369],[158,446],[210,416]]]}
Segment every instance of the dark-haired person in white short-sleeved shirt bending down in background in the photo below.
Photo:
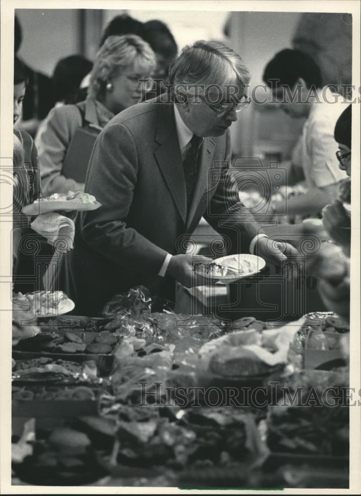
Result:
{"label": "dark-haired person in white short-sleeved shirt bending down in background", "polygon": [[[264,82],[282,110],[293,118],[304,118],[299,142],[300,165],[307,193],[289,198],[289,215],[315,215],[337,195],[338,183],[346,174],[338,167],[335,124],[345,109],[345,100],[322,86],[321,72],[312,58],[299,50],[279,52],[266,66]],[[347,103],[347,102],[346,102]],[[292,177],[288,178],[289,185]],[[277,215],[284,202],[274,205]]]}

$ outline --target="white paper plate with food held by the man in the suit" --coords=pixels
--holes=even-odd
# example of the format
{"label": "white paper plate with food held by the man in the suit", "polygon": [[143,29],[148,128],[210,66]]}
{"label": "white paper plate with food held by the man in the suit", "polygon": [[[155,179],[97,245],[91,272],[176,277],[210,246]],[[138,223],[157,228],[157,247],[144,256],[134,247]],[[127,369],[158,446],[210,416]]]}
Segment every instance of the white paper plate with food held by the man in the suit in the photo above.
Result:
{"label": "white paper plate with food held by the man in the suit", "polygon": [[265,260],[260,256],[240,253],[222,256],[212,262],[195,264],[194,269],[202,277],[229,284],[257,274],[265,265]]}

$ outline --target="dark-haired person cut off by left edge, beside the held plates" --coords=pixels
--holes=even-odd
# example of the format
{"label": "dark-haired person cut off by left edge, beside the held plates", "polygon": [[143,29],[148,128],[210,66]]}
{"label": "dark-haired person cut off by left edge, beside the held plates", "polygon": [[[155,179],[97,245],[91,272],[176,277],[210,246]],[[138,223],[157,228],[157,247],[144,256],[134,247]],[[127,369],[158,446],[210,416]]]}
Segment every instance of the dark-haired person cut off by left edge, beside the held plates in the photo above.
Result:
{"label": "dark-haired person cut off by left edge, beside the held plates", "polygon": [[[25,67],[14,57],[14,124],[21,116],[27,83]],[[36,235],[30,229],[30,218],[21,210],[41,194],[38,155],[34,141],[26,131],[14,129],[13,162],[13,289],[26,293],[34,291],[34,284],[28,281],[29,276],[35,275],[34,259],[27,253],[27,247],[31,246],[31,236]]]}

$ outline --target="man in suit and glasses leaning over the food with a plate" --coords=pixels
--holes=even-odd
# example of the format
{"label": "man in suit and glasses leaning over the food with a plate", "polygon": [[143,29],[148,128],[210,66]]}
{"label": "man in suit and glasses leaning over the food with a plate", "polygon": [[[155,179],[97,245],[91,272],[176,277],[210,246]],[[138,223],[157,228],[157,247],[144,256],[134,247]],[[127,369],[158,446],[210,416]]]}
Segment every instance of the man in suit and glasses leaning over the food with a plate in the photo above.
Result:
{"label": "man in suit and glasses leaning over the food with a plate", "polygon": [[169,81],[170,92],[115,116],[94,145],[85,191],[102,206],[78,215],[74,249],[60,261],[58,288],[77,314],[96,315],[138,284],[170,300],[174,280],[199,284],[184,247],[202,216],[233,253],[280,262],[294,252],[260,233],[228,174],[228,127],[249,103],[241,58],[196,42],[171,64]]}

